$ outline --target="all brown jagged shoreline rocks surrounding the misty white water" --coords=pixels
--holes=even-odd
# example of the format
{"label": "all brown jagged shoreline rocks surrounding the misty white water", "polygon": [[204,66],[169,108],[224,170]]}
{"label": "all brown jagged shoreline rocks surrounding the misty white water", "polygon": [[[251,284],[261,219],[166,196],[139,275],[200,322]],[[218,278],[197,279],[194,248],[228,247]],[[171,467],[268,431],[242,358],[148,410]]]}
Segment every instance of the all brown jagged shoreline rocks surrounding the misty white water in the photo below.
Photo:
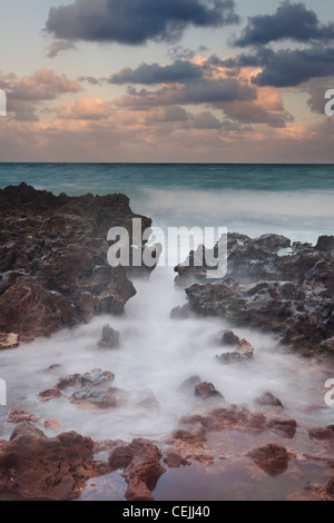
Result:
{"label": "all brown jagged shoreline rocks surrounding the misty white water", "polygon": [[[21,184],[0,190],[0,354],[86,324],[96,315],[124,313],[136,289],[130,270],[108,265],[106,238],[112,226],[131,234],[131,220],[139,216],[126,196],[56,197]],[[149,228],[151,220],[140,218],[143,228]],[[194,264],[203,249],[190,253],[188,267],[176,267],[176,283],[185,288],[188,303],[171,312],[175,320],[224,318],[232,328],[274,334],[282,347],[301,356],[332,362],[334,237],[321,237],[313,247],[292,245],[276,235],[252,239],[230,234],[228,274],[214,283],[206,279],[208,267]],[[256,358],[256,347],[234,330],[217,336],[217,365],[247,365]],[[106,325],[96,348],[121,349],[121,333]],[[62,375],[39,391],[38,401],[50,405],[50,412],[55,401],[112,412],[128,401],[127,391],[114,381],[112,368]],[[334,501],[334,425],[303,424],[271,391],[252,398],[253,411],[229,404],[224,387],[218,391],[200,376],[189,376],[177,393],[180,402],[195,398],[198,408],[158,441],[59,434],[61,420],[41,420],[33,412],[11,408],[6,422],[17,426],[9,441],[0,440],[1,496],[60,501],[107,493],[112,499],[114,478],[120,476],[120,495],[128,501],[173,499],[187,492],[199,499],[198,477],[202,489],[205,484],[210,490],[208,499],[223,499],[226,482],[235,485],[228,491],[232,499],[246,499],[247,493],[256,497],[269,481],[266,489],[274,493],[279,487],[282,499]],[[159,407],[153,393],[137,398],[136,405],[153,413]],[[55,435],[48,437],[46,430]]]}

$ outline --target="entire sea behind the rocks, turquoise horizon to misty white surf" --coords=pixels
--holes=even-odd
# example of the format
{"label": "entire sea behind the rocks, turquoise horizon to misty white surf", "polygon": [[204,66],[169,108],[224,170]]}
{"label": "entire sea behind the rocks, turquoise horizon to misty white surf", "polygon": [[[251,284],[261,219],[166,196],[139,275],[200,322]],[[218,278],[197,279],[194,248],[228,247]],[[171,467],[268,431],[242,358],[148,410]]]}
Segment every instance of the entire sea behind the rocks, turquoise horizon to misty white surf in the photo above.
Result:
{"label": "entire sea behind the rocks, turquoise horizon to misty white surf", "polygon": [[333,234],[334,165],[0,164],[21,181],[70,196],[125,193],[154,225],[227,227],[316,241]]}

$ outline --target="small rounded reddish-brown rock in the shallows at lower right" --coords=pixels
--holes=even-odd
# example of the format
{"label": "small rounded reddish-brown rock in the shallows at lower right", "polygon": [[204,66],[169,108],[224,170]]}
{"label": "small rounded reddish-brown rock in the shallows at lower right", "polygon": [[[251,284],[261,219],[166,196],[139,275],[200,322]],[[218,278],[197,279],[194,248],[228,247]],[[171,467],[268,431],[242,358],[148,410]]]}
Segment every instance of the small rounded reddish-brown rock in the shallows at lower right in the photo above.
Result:
{"label": "small rounded reddish-brown rock in the shallows at lower right", "polygon": [[289,455],[286,448],[275,443],[254,448],[248,456],[271,475],[283,474],[288,467]]}

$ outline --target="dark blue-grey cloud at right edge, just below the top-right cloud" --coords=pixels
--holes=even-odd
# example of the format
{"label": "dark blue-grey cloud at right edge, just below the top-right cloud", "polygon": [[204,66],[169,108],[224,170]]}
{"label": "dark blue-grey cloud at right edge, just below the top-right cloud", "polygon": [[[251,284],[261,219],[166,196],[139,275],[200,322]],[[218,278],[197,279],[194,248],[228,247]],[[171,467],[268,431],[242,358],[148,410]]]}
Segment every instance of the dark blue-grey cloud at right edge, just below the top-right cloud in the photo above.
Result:
{"label": "dark blue-grey cloud at right edge, just below the top-right cloud", "polygon": [[312,78],[334,75],[334,49],[312,47],[308,49],[262,49],[255,56],[238,59],[242,67],[261,67],[255,78],[256,86],[294,87]]}

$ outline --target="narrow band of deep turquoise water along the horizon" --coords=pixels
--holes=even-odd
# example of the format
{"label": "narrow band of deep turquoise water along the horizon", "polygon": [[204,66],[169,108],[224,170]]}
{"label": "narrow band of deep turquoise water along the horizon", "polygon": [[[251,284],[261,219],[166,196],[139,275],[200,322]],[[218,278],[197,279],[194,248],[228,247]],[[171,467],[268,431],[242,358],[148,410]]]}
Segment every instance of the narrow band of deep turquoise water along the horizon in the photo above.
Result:
{"label": "narrow band of deep turquoise water along the horizon", "polygon": [[53,193],[106,194],[136,188],[193,190],[334,189],[334,165],[0,164],[0,187],[26,181]]}

